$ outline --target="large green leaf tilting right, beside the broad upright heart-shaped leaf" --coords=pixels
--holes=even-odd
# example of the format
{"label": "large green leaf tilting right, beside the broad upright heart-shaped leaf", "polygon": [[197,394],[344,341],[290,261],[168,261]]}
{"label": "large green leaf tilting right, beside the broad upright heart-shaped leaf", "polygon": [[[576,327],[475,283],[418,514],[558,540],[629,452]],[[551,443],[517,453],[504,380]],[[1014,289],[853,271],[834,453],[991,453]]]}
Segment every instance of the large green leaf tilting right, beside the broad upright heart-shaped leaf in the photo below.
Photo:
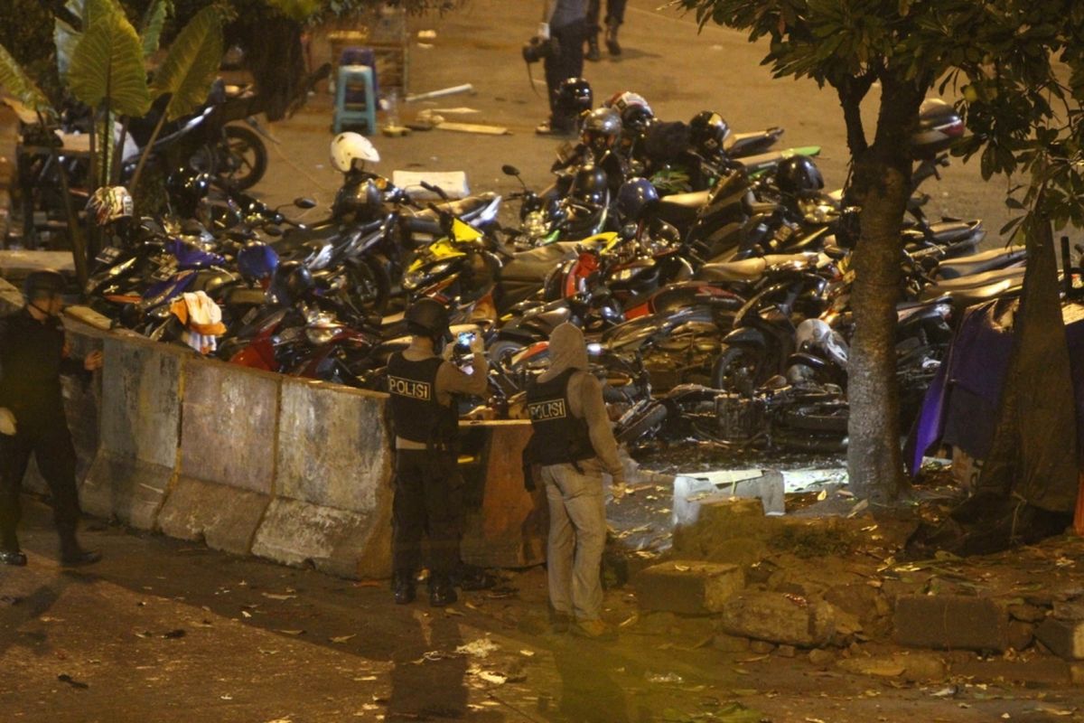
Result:
{"label": "large green leaf tilting right, beside the broad upright heart-shaped leaf", "polygon": [[222,60],[222,18],[204,8],[180,31],[151,86],[155,96],[171,93],[166,120],[176,120],[207,99]]}

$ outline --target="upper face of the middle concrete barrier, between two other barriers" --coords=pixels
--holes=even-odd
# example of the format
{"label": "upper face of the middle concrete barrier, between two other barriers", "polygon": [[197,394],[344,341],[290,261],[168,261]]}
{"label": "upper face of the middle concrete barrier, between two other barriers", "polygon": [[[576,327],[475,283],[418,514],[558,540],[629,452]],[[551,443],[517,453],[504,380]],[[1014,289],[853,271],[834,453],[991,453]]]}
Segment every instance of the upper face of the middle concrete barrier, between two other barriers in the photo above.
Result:
{"label": "upper face of the middle concrete barrier, between two other barriers", "polygon": [[189,360],[181,421],[182,474],[270,495],[281,384],[278,374]]}

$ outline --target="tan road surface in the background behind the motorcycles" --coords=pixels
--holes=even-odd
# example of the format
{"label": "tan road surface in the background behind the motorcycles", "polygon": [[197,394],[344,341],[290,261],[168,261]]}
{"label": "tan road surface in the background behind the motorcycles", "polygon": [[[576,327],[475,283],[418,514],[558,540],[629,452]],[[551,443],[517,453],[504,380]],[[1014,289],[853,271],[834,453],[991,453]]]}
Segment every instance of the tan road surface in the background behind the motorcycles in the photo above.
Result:
{"label": "tan road surface in the background behind the motorcycles", "polygon": [[[631,0],[620,36],[624,52],[614,57],[604,50],[602,62],[586,63],[584,74],[596,100],[634,90],[647,98],[664,120],[688,120],[699,111],[713,109],[736,131],[780,126],[786,129],[783,146],[821,145],[817,164],[827,185],[843,184],[849,156],[842,113],[830,88],[822,90],[811,80],[773,79],[760,65],[767,50],[765,42],[751,44],[744,35],[718,26],[698,31],[692,15],[660,9],[659,4],[659,0]],[[411,48],[409,92],[462,83],[472,83],[474,92],[401,103],[400,115],[410,119],[425,108],[466,107],[477,113],[441,111],[440,115],[450,120],[505,126],[512,134],[434,130],[406,138],[376,137],[374,142],[383,156],[376,167],[379,172],[463,170],[472,191],[508,193],[519,186],[501,173],[501,166],[513,164],[532,188],[549,184],[557,144],[533,133],[547,113],[542,68],[532,66],[532,87],[519,55],[520,46],[534,30],[537,5],[470,0],[465,9],[442,17],[411,21],[412,31],[433,29],[437,37],[426,41],[430,48],[416,42]],[[314,62],[328,57],[326,43],[318,41]],[[868,132],[875,128],[878,98],[875,88],[863,108]],[[274,124],[271,132],[281,143],[272,147],[271,169],[258,191],[275,203],[297,195],[314,196],[323,210],[313,209],[307,218],[326,212],[339,184],[327,163],[331,119],[331,96],[321,92],[294,118]],[[1004,205],[1006,189],[1004,180],[983,182],[977,162],[964,165],[958,159],[944,170],[943,180],[924,186],[932,197],[928,207],[931,217],[981,218],[990,230],[988,244],[997,243],[996,232],[1009,218]]]}

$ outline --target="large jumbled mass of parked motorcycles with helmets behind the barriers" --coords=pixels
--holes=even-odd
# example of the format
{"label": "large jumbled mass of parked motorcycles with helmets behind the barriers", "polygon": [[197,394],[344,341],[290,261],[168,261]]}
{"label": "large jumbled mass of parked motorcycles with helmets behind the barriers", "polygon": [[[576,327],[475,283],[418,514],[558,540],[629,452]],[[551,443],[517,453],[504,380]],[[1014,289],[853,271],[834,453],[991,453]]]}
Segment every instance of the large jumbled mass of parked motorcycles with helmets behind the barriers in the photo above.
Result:
{"label": "large jumbled mass of parked motorcycles with helmets behind the barriers", "polygon": [[[429,184],[396,188],[366,170],[376,149],[343,133],[332,162],[344,184],[317,223],[192,169],[171,177],[160,219],[126,216],[122,198],[103,203],[96,218],[113,242],[87,295],[152,338],[370,389],[383,388],[388,357],[409,343],[402,310],[435,298],[449,308],[459,363],[470,363],[470,335],[486,340],[490,395],[461,408],[482,418],[521,415],[550,333],[570,322],[584,330],[623,442],[843,449],[859,209],[824,189],[820,150],[773,151],[780,129],[732,133],[711,112],[663,122],[630,92],[581,111],[553,184],[513,194],[517,228],[498,223],[496,194],[451,201]],[[939,176],[962,132],[950,106],[924,104],[900,259],[905,415],[962,310],[1022,283],[1022,251],[976,253],[980,221],[922,212],[918,186]]]}

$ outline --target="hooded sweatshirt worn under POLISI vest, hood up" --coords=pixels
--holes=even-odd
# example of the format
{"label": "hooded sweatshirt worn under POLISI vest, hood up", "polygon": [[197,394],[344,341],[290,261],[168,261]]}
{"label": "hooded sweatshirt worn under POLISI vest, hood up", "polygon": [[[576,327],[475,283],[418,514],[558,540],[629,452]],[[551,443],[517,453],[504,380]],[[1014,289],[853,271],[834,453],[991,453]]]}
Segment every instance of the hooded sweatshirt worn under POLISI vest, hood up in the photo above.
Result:
{"label": "hooded sweatshirt worn under POLISI vest, hood up", "polygon": [[542,373],[539,382],[549,382],[568,369],[581,370],[568,380],[569,411],[572,416],[586,419],[591,446],[603,467],[615,482],[624,482],[624,467],[617,453],[617,440],[614,439],[606,402],[603,401],[603,386],[588,371],[588,346],[583,341],[583,332],[566,322],[550,335],[550,369]]}

